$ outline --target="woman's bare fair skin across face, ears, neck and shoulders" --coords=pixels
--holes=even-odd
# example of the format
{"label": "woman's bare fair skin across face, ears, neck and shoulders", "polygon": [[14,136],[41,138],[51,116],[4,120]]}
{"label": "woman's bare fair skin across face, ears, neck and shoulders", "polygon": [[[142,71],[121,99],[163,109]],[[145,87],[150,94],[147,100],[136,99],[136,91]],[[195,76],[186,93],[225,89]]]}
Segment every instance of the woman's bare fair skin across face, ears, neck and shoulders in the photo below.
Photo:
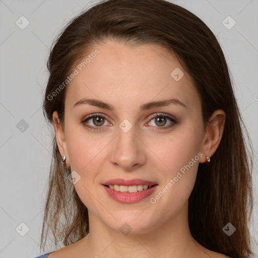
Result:
{"label": "woman's bare fair skin across face, ears, neck and shoulders", "polygon": [[[207,162],[206,156],[212,159],[216,152],[225,112],[216,110],[204,129],[201,99],[191,77],[160,45],[132,47],[109,40],[96,48],[100,53],[68,86],[64,128],[57,113],[53,113],[60,154],[66,155],[71,171],[81,176],[74,186],[88,208],[90,233],[49,257],[227,257],[197,243],[187,220],[188,198],[198,164]],[[170,76],[175,68],[184,73],[179,81]],[[89,104],[73,107],[82,98],[102,100],[114,110]],[[142,104],[170,98],[177,98],[186,107],[171,104],[140,112]],[[80,122],[94,113],[107,116],[102,130],[91,130]],[[178,123],[167,118],[162,126],[172,127],[155,130],[161,127],[155,118],[150,119],[155,113],[171,115]],[[127,133],[119,127],[124,119],[133,125]],[[98,125],[93,119],[88,124]],[[198,153],[202,157],[152,204],[150,198]],[[159,185],[151,197],[121,204],[111,199],[102,186],[112,178],[141,178]],[[130,234],[120,232],[123,223],[132,228]]]}

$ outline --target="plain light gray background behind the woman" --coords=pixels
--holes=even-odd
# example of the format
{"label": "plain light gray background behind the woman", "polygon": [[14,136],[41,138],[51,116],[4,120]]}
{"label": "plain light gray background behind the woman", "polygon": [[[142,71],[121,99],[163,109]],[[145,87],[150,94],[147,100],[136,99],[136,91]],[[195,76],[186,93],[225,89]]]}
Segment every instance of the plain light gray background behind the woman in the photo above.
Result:
{"label": "plain light gray background behind the woman", "polygon": [[[239,108],[257,158],[258,0],[173,2],[195,13],[217,35],[233,76]],[[48,76],[46,61],[49,47],[65,23],[94,3],[97,1],[0,0],[0,257],[39,255],[52,152],[50,133],[41,106]],[[16,24],[21,16],[29,21],[23,30]],[[231,29],[224,26],[225,22],[223,24],[228,16],[236,22]],[[227,26],[231,27],[232,22],[229,20]],[[255,161],[254,185],[257,182]],[[257,188],[254,198],[251,232],[253,239],[257,240]],[[21,223],[29,228],[24,236],[19,234],[26,230]],[[49,251],[53,250],[53,247],[49,248]],[[258,253],[258,247],[253,248]]]}

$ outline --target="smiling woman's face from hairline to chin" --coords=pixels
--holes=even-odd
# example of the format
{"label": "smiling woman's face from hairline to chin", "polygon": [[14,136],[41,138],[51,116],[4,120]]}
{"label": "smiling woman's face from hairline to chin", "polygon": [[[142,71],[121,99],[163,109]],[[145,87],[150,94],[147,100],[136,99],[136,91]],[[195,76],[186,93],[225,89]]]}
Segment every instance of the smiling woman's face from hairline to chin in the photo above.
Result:
{"label": "smiling woman's face from hairline to chin", "polygon": [[[140,233],[179,215],[184,220],[206,159],[201,100],[191,77],[156,44],[107,41],[96,48],[87,65],[78,62],[67,86],[64,134],[57,135],[90,221],[114,230],[127,223]],[[113,179],[120,182],[106,183]],[[144,184],[155,186],[141,191]]]}

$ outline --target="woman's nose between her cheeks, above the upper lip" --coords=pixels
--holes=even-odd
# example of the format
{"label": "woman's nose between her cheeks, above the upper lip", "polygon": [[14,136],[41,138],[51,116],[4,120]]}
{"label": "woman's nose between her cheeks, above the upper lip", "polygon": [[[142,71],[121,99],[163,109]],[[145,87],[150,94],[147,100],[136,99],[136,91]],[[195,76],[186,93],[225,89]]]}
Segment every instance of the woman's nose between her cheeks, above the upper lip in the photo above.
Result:
{"label": "woman's nose between her cheeks, above the upper lip", "polygon": [[136,135],[134,126],[127,133],[117,128],[117,136],[110,145],[109,161],[123,170],[132,171],[146,162],[145,145]]}

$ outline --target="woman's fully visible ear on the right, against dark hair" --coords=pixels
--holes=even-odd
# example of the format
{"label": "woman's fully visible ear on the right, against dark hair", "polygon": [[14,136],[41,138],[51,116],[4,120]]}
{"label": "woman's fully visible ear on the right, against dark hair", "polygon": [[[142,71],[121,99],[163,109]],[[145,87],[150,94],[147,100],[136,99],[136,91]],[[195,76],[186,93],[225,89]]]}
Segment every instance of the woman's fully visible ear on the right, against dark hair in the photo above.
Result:
{"label": "woman's fully visible ear on the right, against dark hair", "polygon": [[222,109],[214,111],[209,119],[204,135],[201,152],[204,154],[200,158],[201,163],[207,162],[206,156],[212,157],[219,147],[226,121],[226,113]]}

